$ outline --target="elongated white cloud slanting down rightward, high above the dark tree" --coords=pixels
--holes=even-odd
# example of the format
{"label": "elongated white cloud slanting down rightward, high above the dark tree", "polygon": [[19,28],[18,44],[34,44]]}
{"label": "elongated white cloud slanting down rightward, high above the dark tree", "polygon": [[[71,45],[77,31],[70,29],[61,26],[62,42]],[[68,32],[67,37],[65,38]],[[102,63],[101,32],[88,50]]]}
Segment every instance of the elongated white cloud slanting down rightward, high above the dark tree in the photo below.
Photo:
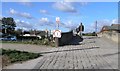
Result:
{"label": "elongated white cloud slanting down rightward, high above the dark tree", "polygon": [[12,15],[16,15],[16,16],[20,16],[20,17],[24,17],[24,18],[27,18],[27,19],[32,19],[33,17],[29,14],[29,13],[26,13],[26,12],[18,12],[12,8],[10,8],[9,10],[9,13],[12,14]]}

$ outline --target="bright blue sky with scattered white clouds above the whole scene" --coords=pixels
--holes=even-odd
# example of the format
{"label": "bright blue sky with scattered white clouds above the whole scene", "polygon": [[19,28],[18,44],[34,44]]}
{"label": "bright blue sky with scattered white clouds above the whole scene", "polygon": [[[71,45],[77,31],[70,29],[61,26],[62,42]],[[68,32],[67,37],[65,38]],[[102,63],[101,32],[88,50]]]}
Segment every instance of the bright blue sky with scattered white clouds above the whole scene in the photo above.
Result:
{"label": "bright blue sky with scattered white clouds above the whole scene", "polygon": [[[85,32],[103,25],[117,24],[117,2],[2,2],[2,16],[13,17],[17,28],[54,30],[60,17],[60,30],[67,32],[82,22]],[[17,29],[16,28],[16,29]]]}

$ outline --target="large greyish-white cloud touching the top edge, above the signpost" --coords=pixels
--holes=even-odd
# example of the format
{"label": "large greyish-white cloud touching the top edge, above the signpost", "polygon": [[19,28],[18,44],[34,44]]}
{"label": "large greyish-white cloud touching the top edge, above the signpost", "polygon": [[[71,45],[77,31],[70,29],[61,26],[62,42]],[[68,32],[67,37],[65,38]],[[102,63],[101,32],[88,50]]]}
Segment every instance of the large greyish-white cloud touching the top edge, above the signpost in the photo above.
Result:
{"label": "large greyish-white cloud touching the top edge, above the signpost", "polygon": [[62,11],[62,12],[69,12],[69,13],[76,13],[77,10],[74,8],[72,3],[70,2],[56,2],[53,4],[53,8]]}

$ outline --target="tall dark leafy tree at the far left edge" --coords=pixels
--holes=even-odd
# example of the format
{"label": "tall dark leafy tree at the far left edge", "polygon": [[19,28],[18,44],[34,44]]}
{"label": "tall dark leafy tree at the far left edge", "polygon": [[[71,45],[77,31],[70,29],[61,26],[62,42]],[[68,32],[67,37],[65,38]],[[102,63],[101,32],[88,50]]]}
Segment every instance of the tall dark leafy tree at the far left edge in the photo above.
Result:
{"label": "tall dark leafy tree at the far left edge", "polygon": [[2,18],[2,33],[12,35],[15,32],[16,23],[12,17]]}

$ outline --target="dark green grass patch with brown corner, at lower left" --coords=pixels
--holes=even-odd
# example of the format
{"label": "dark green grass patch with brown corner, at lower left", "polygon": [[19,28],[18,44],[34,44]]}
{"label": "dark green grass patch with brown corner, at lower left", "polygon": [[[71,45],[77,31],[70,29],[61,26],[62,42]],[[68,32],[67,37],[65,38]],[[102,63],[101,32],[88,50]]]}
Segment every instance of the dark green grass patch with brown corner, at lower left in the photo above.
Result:
{"label": "dark green grass patch with brown corner, at lower left", "polygon": [[2,61],[3,66],[15,62],[27,61],[30,59],[35,59],[41,56],[38,53],[29,53],[25,51],[17,51],[17,50],[2,50]]}

